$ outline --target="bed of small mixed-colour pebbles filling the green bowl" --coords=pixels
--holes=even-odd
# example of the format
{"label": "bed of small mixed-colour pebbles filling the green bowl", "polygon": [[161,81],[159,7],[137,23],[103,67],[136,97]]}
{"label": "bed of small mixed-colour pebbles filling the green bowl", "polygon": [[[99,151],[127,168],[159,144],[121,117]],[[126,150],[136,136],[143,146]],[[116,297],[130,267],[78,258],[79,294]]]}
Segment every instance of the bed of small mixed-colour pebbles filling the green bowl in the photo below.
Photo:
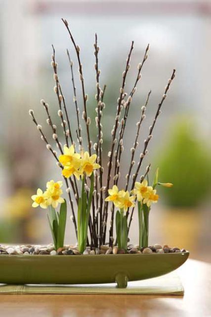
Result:
{"label": "bed of small mixed-colour pebbles filling the green bowl", "polygon": [[[155,244],[147,248],[128,245],[127,254],[152,254],[152,253],[183,253],[185,249],[170,248],[168,245],[161,246]],[[55,250],[53,244],[46,246],[41,245],[21,245],[21,246],[0,246],[0,255],[82,255],[77,246],[65,245],[63,248]],[[109,245],[102,245],[100,248],[87,247],[83,253],[84,255],[100,255],[100,254],[126,254],[124,249],[119,249],[117,246],[109,247]]]}

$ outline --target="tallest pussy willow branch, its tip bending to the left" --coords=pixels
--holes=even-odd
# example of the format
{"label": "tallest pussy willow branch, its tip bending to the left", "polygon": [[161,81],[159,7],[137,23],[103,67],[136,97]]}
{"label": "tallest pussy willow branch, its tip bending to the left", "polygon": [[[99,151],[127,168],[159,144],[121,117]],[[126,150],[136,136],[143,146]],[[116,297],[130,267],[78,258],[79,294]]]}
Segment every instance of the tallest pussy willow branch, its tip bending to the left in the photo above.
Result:
{"label": "tallest pussy willow branch, its tip bending to the left", "polygon": [[69,26],[68,26],[68,22],[64,19],[62,19],[64,25],[67,28],[67,31],[70,35],[71,41],[73,43],[73,46],[76,50],[76,54],[77,54],[77,59],[78,59],[78,63],[79,63],[79,73],[80,73],[80,81],[82,83],[82,93],[83,93],[83,101],[84,101],[84,113],[83,113],[83,118],[85,121],[85,125],[86,125],[86,133],[87,133],[87,140],[88,140],[88,152],[89,155],[91,155],[91,147],[92,147],[92,143],[90,140],[90,134],[89,134],[89,124],[90,124],[90,118],[87,117],[87,110],[86,110],[86,101],[87,101],[87,95],[85,94],[85,88],[84,88],[84,76],[83,76],[83,71],[82,71],[82,63],[81,63],[81,58],[80,58],[80,48],[78,45],[76,45],[75,40],[72,36],[72,33],[70,32]]}

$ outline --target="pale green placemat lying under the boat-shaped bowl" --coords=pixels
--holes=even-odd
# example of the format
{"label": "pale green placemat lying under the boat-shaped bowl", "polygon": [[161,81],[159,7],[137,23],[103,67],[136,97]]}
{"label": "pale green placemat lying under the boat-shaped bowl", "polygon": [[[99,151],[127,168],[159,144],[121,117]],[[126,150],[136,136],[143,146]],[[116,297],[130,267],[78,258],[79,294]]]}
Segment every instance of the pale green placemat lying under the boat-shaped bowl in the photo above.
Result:
{"label": "pale green placemat lying under the boat-shaped bowl", "polygon": [[163,294],[183,295],[184,288],[175,272],[143,281],[128,282],[127,288],[116,284],[93,285],[5,285],[0,294]]}

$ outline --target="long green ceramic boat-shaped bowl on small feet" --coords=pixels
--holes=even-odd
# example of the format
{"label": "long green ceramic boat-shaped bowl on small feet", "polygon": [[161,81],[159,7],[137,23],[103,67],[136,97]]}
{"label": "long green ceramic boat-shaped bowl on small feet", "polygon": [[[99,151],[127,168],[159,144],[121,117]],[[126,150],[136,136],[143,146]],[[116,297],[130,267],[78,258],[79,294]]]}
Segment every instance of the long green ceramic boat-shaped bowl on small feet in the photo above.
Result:
{"label": "long green ceramic boat-shaped bowl on small feet", "polygon": [[98,284],[160,276],[182,265],[189,253],[123,255],[0,255],[0,283]]}

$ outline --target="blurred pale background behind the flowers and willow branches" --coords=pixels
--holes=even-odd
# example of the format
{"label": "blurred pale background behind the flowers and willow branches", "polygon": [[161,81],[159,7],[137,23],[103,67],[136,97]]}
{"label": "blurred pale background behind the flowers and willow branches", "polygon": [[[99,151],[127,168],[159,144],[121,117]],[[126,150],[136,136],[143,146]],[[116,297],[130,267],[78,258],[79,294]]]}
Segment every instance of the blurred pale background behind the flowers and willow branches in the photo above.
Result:
{"label": "blurred pale background behind the flowers and willow branches", "polygon": [[[0,0],[0,243],[50,242],[45,211],[31,208],[31,195],[45,189],[49,179],[60,179],[53,157],[46,151],[28,110],[36,117],[53,145],[51,131],[40,100],[57,116],[54,80],[50,66],[52,48],[60,82],[76,130],[71,72],[66,49],[76,61],[66,18],[81,48],[88,114],[94,122],[96,101],[93,43],[98,34],[101,86],[107,85],[103,115],[103,156],[107,163],[110,131],[122,83],[130,43],[134,41],[126,91],[130,92],[137,64],[150,43],[142,79],[130,107],[122,160],[121,185],[130,160],[135,123],[148,91],[152,94],[142,126],[138,154],[148,134],[164,88],[176,68],[176,78],[159,117],[149,155],[141,174],[152,164],[160,181],[173,188],[160,190],[159,204],[150,214],[150,243],[190,250],[191,257],[211,262],[211,2],[191,0]],[[81,86],[75,62],[79,105]],[[82,107],[81,107],[82,109]],[[96,135],[92,127],[92,139]],[[61,130],[62,136],[62,130]],[[130,239],[137,243],[136,215]],[[75,239],[68,220],[66,242]]]}

